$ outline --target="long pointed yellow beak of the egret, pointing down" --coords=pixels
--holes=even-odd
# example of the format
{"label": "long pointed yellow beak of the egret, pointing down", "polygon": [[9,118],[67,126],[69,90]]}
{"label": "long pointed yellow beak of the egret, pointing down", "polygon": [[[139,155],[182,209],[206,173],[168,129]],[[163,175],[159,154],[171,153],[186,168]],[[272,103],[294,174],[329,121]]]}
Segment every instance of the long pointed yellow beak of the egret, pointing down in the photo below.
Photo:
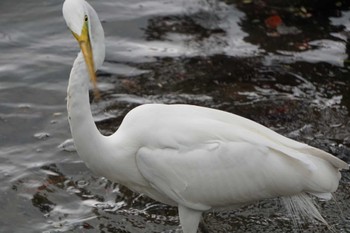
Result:
{"label": "long pointed yellow beak of the egret, pointing down", "polygon": [[84,55],[85,63],[88,68],[88,72],[90,75],[90,80],[93,85],[93,91],[95,98],[100,98],[100,92],[97,88],[97,81],[96,81],[96,73],[95,73],[95,64],[94,64],[94,58],[92,53],[92,47],[89,37],[89,30],[87,23],[84,24],[83,30],[81,31],[81,35],[79,36],[75,32],[72,32],[75,39],[78,41],[81,52]]}

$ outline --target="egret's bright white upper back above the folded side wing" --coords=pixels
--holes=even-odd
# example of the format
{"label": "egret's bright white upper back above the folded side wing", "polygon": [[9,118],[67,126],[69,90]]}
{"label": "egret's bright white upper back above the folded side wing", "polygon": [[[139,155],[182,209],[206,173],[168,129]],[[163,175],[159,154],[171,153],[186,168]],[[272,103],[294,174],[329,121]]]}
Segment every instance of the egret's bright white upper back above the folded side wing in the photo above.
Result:
{"label": "egret's bright white upper back above the folded side wing", "polygon": [[[151,129],[154,140],[149,137],[142,140],[147,140],[144,145],[153,145],[154,148],[198,144],[212,139],[249,142],[278,150],[283,156],[293,157],[310,169],[313,163],[305,154],[321,158],[338,169],[349,168],[347,163],[327,152],[284,137],[247,118],[220,110],[193,105],[150,104],[138,107],[130,115],[136,120],[130,121],[127,128],[135,128],[135,135],[140,135],[140,128],[147,128],[142,122],[148,122],[147,132]],[[141,122],[141,125],[135,122]]]}

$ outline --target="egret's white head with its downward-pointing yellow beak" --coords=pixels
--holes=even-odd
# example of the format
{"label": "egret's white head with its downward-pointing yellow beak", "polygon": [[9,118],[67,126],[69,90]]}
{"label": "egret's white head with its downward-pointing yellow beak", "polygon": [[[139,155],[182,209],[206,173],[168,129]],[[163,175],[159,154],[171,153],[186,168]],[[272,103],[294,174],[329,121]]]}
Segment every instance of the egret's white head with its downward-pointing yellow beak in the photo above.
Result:
{"label": "egret's white head with its downward-pointing yellow beak", "polygon": [[[95,65],[96,62],[102,64],[104,59],[104,33],[98,16],[85,0],[65,0],[62,12],[68,28],[79,43],[94,86],[95,96],[98,97]],[[102,43],[96,43],[97,40],[102,40]],[[102,44],[100,47],[103,48],[95,44]],[[99,59],[100,57],[102,59]]]}

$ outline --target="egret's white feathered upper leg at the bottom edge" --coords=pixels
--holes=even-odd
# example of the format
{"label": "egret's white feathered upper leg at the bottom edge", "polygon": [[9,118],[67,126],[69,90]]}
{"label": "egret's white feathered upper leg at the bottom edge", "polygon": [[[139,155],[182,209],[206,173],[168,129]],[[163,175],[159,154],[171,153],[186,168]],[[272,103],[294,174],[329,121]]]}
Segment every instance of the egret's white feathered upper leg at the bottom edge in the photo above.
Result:
{"label": "egret's white feathered upper leg at the bottom edge", "polygon": [[179,205],[179,217],[183,233],[197,233],[202,212]]}

